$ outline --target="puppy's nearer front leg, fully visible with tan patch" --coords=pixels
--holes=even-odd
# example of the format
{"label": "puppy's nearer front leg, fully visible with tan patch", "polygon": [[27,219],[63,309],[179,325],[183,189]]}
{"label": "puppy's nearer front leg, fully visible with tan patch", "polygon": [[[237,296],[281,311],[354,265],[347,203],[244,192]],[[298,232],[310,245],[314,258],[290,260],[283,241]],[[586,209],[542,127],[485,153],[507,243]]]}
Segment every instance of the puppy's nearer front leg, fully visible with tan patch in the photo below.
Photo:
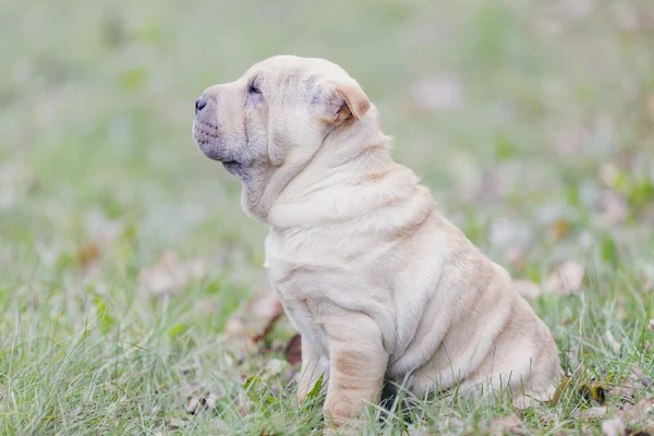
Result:
{"label": "puppy's nearer front leg, fully visible with tan patch", "polygon": [[326,317],[323,326],[329,346],[325,420],[341,426],[361,417],[367,401],[379,401],[388,353],[379,326],[367,315],[340,310]]}

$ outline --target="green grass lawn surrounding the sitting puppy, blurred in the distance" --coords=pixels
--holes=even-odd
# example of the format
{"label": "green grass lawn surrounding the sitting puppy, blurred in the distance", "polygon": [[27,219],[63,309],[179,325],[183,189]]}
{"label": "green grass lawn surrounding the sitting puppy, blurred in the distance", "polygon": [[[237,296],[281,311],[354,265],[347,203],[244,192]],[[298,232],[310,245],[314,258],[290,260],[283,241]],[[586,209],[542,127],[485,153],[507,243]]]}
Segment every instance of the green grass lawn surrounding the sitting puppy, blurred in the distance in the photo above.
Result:
{"label": "green grass lawn surrounding the sitting puppy, blurred in the distance", "polygon": [[[5,3],[0,434],[319,431],[320,397],[292,405],[282,353],[241,365],[230,355],[226,324],[266,288],[265,228],[190,134],[206,86],[283,52],[349,70],[397,158],[514,277],[583,266],[581,291],[534,302],[568,375],[611,386],[633,367],[654,376],[650,1]],[[206,274],[153,295],[140,272],[167,251]],[[290,335],[282,320],[267,344]],[[190,386],[217,404],[187,414]],[[600,434],[619,416],[653,433],[654,416],[631,405],[653,395],[600,404],[568,391],[520,425]],[[416,410],[412,435],[489,433],[513,414],[505,399]],[[371,434],[399,431],[401,416],[373,410]]]}

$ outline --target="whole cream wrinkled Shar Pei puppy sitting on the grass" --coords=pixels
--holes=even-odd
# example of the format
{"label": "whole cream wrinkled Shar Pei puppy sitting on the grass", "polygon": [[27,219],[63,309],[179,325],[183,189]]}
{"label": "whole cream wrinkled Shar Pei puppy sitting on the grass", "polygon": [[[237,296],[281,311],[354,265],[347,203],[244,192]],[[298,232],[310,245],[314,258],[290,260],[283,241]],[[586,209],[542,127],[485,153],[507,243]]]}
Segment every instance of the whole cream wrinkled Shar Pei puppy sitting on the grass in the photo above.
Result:
{"label": "whole cream wrinkled Shar Pei puppy sitting on the grass", "polygon": [[323,373],[335,425],[378,401],[384,379],[419,395],[509,386],[521,407],[550,398],[561,370],[548,328],[393,161],[340,66],[274,57],[203,98],[196,143],[270,229],[265,267],[302,334],[300,401]]}

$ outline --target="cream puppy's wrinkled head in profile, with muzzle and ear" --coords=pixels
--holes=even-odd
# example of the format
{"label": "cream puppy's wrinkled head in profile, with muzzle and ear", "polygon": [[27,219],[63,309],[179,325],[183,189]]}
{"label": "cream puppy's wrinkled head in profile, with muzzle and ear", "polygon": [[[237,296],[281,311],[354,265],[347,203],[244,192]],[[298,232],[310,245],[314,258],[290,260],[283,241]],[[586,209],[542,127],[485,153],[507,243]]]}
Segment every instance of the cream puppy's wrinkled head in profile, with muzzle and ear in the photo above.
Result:
{"label": "cream puppy's wrinkled head in profile, with muzzle and ear", "polygon": [[301,167],[331,131],[356,122],[370,107],[340,66],[277,56],[235,82],[207,88],[195,102],[193,137],[208,158],[261,185],[279,167]]}

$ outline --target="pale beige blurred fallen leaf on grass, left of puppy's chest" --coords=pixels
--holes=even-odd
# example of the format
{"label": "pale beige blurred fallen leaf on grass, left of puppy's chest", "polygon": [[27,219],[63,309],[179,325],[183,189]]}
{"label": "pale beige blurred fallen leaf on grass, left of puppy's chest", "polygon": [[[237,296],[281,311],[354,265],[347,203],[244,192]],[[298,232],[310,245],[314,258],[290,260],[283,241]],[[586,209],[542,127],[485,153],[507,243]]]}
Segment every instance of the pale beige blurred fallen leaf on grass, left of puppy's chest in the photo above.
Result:
{"label": "pale beige blurred fallen leaf on grass, left of puppy's chest", "polygon": [[181,262],[175,253],[166,252],[155,266],[141,271],[138,283],[154,295],[168,295],[204,275],[205,265],[201,261]]}

